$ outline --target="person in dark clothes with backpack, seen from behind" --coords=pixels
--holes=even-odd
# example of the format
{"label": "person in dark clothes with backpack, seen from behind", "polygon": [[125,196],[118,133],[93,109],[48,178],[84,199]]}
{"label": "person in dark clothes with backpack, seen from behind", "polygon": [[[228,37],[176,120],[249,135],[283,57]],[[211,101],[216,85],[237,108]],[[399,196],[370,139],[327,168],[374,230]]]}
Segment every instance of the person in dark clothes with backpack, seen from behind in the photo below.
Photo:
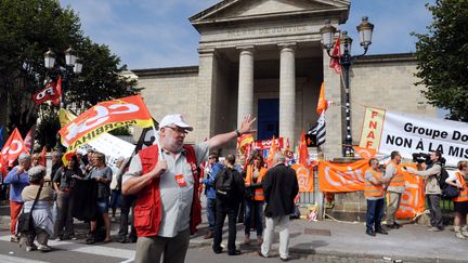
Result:
{"label": "person in dark clothes with backpack, seen from behind", "polygon": [[[214,253],[221,253],[222,227],[227,215],[227,254],[238,255],[242,252],[236,249],[235,239],[237,234],[236,220],[237,211],[240,202],[244,199],[244,179],[242,174],[234,169],[235,156],[227,155],[224,160],[225,168],[218,173],[214,185],[217,187],[217,218],[214,226],[214,239],[212,249]],[[225,195],[220,195],[220,185],[223,182],[230,182],[229,189]],[[223,189],[224,190],[224,189]]]}

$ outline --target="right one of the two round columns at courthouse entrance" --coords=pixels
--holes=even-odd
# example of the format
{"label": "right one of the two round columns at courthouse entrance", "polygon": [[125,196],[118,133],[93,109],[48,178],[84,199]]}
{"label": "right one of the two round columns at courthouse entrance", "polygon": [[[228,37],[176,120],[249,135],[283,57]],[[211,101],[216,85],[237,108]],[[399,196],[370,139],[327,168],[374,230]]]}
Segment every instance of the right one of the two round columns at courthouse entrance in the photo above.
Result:
{"label": "right one of the two round columns at courthouse entrance", "polygon": [[280,136],[296,143],[295,44],[280,44]]}

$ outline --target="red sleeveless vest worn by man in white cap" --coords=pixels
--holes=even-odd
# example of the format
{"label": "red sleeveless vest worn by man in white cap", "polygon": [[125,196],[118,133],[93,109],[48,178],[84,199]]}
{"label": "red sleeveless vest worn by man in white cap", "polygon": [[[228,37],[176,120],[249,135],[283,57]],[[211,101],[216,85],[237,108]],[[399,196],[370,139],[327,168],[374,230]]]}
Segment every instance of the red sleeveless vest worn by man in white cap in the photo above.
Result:
{"label": "red sleeveless vest worn by man in white cap", "polygon": [[[191,210],[191,234],[196,233],[196,226],[202,223],[202,205],[197,195],[199,185],[199,174],[197,171],[197,162],[195,150],[190,145],[184,145],[183,148],[186,150],[185,158],[191,165],[192,173],[194,177],[194,196],[192,201]],[[143,174],[152,171],[159,156],[159,149],[157,145],[150,146],[139,152],[139,156],[142,163]],[[150,182],[138,195],[136,205],[134,208],[134,227],[139,237],[144,236],[157,236],[159,232],[159,225],[162,216],[162,203],[160,200],[159,179]]]}

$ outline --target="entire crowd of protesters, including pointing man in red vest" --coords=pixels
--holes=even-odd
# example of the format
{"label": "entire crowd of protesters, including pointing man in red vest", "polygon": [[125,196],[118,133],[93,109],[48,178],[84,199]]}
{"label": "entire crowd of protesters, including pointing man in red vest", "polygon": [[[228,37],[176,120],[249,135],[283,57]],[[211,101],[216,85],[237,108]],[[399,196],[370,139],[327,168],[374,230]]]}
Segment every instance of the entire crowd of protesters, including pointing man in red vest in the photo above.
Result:
{"label": "entire crowd of protesters, including pointing man in red vest", "polygon": [[[273,233],[277,226],[280,258],[287,261],[288,224],[295,213],[299,186],[296,172],[286,165],[283,153],[274,154],[269,168],[261,153],[253,152],[247,159],[227,155],[221,161],[219,152],[209,153],[250,133],[253,121],[246,117],[235,131],[187,146],[183,142],[193,128],[181,115],[166,116],[160,122],[159,145],[141,150],[131,161],[118,158],[112,168],[102,153],[89,150],[86,155],[72,155],[64,165],[63,154],[53,152],[48,182],[47,169],[40,165],[41,156],[22,154],[3,180],[10,185],[11,241],[20,242],[26,251],[50,251],[48,240],[51,238],[57,241],[78,239],[74,227],[74,219],[77,219],[89,223],[87,244],[110,242],[109,210],[115,218],[117,208],[121,208],[117,241],[136,242],[135,262],[158,262],[161,258],[164,262],[184,262],[190,236],[202,222],[198,189],[204,185],[208,222],[204,238],[213,238],[214,253],[224,250],[221,240],[227,218],[229,255],[242,253],[235,240],[236,225],[244,222],[244,244],[251,244],[250,233],[255,231],[257,252],[262,258],[271,257]],[[369,159],[364,189],[367,200],[365,233],[374,237],[376,234],[388,235],[388,228],[402,226],[394,214],[404,193],[404,170],[414,176],[424,176],[430,211],[429,231],[443,231],[440,201],[444,187],[440,182],[444,163],[441,153],[430,153],[427,160],[418,162],[417,169],[402,166],[398,152],[391,153],[390,158],[385,170],[379,167],[379,160]],[[126,161],[129,166],[125,166]],[[203,162],[206,165],[200,169]],[[466,239],[468,162],[459,161],[457,169],[444,181],[458,192],[453,198],[454,231],[457,238]],[[387,193],[388,201],[385,200]],[[16,228],[23,213],[30,213],[32,229]],[[382,225],[385,215],[387,228]],[[39,246],[35,245],[35,239]]]}

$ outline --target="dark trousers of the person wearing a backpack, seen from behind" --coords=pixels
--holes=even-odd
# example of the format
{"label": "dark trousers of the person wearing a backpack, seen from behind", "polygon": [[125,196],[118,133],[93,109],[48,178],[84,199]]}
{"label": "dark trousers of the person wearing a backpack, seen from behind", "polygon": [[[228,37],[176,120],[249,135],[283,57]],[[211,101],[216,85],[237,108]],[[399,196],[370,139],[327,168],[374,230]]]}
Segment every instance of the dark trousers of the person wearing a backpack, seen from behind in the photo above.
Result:
{"label": "dark trousers of the person wearing a backpack, seen from behind", "polygon": [[237,222],[237,211],[239,203],[223,203],[217,199],[217,221],[214,225],[214,240],[212,245],[213,251],[221,251],[221,240],[222,240],[222,227],[224,225],[225,216],[227,215],[229,224],[229,236],[227,236],[227,252],[234,253],[236,250],[235,239],[236,239],[236,222]]}

